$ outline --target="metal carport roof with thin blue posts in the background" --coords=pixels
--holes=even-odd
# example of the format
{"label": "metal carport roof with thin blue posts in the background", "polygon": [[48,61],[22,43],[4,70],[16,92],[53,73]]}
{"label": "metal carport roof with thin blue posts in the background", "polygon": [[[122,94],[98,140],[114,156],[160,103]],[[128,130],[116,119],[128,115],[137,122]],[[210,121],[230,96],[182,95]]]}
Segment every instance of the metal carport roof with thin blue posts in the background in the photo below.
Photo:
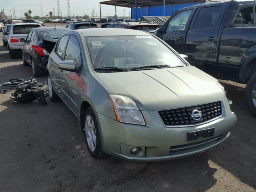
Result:
{"label": "metal carport roof with thin blue posts in the background", "polygon": [[[128,7],[128,8],[136,8],[136,19],[137,19],[137,8],[140,7],[152,7],[152,6],[163,6],[163,12],[165,16],[165,6],[173,5],[173,4],[186,4],[186,3],[197,3],[197,2],[205,2],[206,0],[108,0],[100,2],[100,20],[101,20],[101,4]],[[117,20],[117,14],[116,20]]]}

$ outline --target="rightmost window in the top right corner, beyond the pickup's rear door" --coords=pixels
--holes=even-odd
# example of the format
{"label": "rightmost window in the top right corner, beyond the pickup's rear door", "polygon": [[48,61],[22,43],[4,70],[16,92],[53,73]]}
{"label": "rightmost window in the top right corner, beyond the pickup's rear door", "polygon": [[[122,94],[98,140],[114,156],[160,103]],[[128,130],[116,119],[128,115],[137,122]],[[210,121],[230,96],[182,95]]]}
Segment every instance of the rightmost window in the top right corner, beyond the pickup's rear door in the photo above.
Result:
{"label": "rightmost window in the top right corner, beyond the pickup's rear door", "polygon": [[234,18],[233,26],[253,26],[252,6],[240,8]]}

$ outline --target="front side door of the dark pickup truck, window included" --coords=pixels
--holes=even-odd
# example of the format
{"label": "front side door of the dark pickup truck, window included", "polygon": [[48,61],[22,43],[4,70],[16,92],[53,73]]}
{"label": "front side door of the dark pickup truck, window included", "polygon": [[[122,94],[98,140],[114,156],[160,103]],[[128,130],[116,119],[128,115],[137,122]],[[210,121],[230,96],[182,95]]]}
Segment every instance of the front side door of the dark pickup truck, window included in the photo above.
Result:
{"label": "front side door of the dark pickup truck, window included", "polygon": [[160,37],[180,54],[184,53],[186,34],[195,9],[184,10],[172,17]]}

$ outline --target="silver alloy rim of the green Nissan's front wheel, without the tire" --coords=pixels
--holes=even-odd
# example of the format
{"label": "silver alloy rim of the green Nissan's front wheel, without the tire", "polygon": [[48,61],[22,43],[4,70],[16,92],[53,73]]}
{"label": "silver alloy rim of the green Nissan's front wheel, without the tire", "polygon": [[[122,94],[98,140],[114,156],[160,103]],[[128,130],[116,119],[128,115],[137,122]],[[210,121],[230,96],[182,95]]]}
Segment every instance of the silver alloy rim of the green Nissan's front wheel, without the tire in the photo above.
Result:
{"label": "silver alloy rim of the green Nissan's front wheel, without the tire", "polygon": [[92,152],[96,149],[96,129],[92,116],[87,115],[85,120],[85,134],[87,144]]}

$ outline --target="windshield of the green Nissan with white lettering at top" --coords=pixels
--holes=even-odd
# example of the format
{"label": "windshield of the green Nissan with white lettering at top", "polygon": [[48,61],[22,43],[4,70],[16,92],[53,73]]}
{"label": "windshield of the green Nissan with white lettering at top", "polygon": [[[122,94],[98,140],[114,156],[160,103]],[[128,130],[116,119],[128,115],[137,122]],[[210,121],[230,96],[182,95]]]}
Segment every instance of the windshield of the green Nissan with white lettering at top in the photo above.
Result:
{"label": "windshield of the green Nissan with white lettering at top", "polygon": [[86,42],[94,70],[185,66],[172,50],[151,35],[87,37]]}

